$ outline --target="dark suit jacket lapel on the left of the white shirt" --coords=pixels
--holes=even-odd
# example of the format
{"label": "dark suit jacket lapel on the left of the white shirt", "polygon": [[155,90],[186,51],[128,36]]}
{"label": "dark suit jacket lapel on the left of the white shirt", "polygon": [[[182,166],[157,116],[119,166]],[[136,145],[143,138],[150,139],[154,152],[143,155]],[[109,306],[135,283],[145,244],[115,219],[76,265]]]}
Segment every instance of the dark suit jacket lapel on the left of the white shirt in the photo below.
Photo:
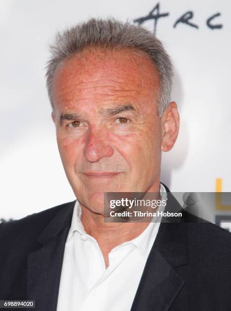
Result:
{"label": "dark suit jacket lapel on the left of the white shirt", "polygon": [[56,310],[65,242],[74,203],[63,206],[38,237],[42,248],[28,256],[27,299],[35,300],[37,311]]}

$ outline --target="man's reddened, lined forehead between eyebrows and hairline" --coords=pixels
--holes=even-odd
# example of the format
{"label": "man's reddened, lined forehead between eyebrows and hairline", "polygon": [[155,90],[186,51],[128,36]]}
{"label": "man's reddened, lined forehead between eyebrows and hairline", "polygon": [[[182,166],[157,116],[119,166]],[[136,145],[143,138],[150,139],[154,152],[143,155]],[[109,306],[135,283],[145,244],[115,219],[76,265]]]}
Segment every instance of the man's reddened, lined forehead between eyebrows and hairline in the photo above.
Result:
{"label": "man's reddened, lined forehead between eyebrows and hairline", "polygon": [[142,100],[157,97],[159,74],[136,50],[88,49],[59,65],[53,80],[55,103]]}

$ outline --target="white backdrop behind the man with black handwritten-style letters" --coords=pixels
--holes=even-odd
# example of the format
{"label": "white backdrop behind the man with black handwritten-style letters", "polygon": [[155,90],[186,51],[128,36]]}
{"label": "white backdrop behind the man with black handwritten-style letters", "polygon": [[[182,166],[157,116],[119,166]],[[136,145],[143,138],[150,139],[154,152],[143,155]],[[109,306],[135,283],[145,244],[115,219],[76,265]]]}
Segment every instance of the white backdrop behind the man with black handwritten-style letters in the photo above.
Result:
{"label": "white backdrop behind the man with black handwritten-style letters", "polygon": [[[24,215],[74,200],[65,177],[45,87],[48,43],[56,30],[89,17],[130,20],[158,4],[145,0],[1,0],[1,212]],[[213,192],[216,178],[231,191],[231,5],[217,1],[162,0],[156,34],[172,57],[172,100],[181,127],[174,149],[163,154],[162,181],[173,192]],[[187,11],[189,22],[173,25]],[[211,24],[222,28],[211,29]],[[143,26],[153,30],[153,19]]]}

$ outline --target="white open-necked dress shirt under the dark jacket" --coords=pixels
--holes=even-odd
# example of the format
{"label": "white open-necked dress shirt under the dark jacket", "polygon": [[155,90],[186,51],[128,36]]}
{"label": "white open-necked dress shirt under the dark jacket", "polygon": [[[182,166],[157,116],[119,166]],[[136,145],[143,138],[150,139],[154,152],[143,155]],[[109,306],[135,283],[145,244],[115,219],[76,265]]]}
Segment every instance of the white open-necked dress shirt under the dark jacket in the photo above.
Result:
{"label": "white open-necked dress shirt under the dark jacket", "polygon": [[[166,199],[162,184],[160,191],[162,200]],[[138,237],[114,247],[106,268],[97,241],[84,230],[76,201],[65,244],[57,311],[130,310],[159,227],[160,219],[149,223]]]}

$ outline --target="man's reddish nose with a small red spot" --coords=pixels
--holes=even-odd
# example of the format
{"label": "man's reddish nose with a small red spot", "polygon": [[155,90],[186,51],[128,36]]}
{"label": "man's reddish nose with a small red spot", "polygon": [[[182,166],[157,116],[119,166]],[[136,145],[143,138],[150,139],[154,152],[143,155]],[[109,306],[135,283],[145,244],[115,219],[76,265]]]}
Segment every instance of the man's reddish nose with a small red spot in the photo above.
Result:
{"label": "man's reddish nose with a small red spot", "polygon": [[114,150],[105,131],[89,130],[86,137],[84,155],[89,162],[97,162],[104,157],[111,157]]}

